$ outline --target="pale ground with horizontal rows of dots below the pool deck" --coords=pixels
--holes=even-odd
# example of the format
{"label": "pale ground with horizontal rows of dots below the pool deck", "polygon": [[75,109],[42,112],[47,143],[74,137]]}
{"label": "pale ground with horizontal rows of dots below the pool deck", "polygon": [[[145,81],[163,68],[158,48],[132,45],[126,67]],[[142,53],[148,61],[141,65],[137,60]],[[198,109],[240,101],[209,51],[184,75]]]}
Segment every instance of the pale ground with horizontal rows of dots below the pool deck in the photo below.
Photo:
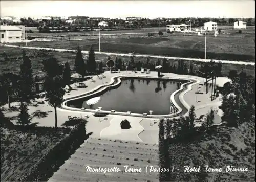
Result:
{"label": "pale ground with horizontal rows of dots below the pool deck", "polygon": [[[158,161],[156,144],[89,138],[49,181],[158,181],[158,172],[146,172],[148,166],[157,169]],[[125,171],[125,165],[141,172]],[[89,167],[120,171],[93,172]]]}

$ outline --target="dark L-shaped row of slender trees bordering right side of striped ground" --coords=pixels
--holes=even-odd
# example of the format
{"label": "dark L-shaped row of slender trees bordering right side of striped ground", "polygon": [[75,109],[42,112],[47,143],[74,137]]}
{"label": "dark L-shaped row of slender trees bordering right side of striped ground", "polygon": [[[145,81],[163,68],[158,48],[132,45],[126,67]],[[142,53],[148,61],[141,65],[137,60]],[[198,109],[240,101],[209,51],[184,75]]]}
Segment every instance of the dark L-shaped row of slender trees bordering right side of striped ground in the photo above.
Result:
{"label": "dark L-shaped row of slender trees bordering right side of striped ground", "polygon": [[[195,127],[196,117],[195,107],[191,106],[186,117],[174,119],[161,119],[159,122],[159,166],[164,169],[171,169],[169,145],[174,142],[188,142],[197,133],[210,131],[214,123],[214,111],[211,109],[203,121],[201,127]],[[173,181],[171,173],[163,171],[159,173],[159,181]]]}

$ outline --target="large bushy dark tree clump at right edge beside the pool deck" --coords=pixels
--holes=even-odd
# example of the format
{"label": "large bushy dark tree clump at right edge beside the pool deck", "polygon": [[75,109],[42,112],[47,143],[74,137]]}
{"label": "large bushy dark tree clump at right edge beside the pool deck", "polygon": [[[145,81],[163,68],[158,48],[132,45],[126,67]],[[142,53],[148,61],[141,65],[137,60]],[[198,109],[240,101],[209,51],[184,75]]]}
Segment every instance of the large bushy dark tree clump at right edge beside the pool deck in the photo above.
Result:
{"label": "large bushy dark tree clump at right edge beside the pool deck", "polygon": [[223,90],[222,121],[230,127],[237,127],[244,122],[255,121],[255,77],[245,72],[229,72],[231,83]]}

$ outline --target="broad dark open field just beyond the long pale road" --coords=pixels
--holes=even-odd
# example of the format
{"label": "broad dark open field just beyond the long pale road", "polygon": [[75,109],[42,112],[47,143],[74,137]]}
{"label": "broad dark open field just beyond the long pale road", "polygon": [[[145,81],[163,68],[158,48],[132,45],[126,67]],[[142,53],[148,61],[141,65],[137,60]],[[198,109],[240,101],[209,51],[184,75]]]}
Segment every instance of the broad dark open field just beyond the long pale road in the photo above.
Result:
{"label": "broad dark open field just beyond the long pale road", "polygon": [[[207,36],[206,59],[255,61],[255,34],[220,34],[217,37]],[[25,45],[13,43],[15,45]],[[98,39],[70,40],[70,41],[47,41],[29,42],[30,47],[45,47],[55,49],[75,50],[77,46],[82,50],[89,50],[93,46],[98,49]],[[140,37],[102,37],[100,50],[102,52],[150,54],[185,58],[204,59],[205,37],[191,34],[191,36],[163,37],[140,36]]]}

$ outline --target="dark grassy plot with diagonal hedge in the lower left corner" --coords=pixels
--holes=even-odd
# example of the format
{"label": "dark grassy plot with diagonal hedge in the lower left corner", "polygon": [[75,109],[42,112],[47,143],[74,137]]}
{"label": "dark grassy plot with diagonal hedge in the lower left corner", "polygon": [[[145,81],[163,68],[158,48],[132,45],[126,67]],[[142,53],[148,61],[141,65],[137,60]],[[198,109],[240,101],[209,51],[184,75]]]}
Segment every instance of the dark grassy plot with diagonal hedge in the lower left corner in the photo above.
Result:
{"label": "dark grassy plot with diagonal hedge in the lower left corner", "polygon": [[46,181],[83,142],[85,127],[80,123],[56,132],[50,127],[26,131],[16,126],[1,128],[1,134],[1,181]]}

